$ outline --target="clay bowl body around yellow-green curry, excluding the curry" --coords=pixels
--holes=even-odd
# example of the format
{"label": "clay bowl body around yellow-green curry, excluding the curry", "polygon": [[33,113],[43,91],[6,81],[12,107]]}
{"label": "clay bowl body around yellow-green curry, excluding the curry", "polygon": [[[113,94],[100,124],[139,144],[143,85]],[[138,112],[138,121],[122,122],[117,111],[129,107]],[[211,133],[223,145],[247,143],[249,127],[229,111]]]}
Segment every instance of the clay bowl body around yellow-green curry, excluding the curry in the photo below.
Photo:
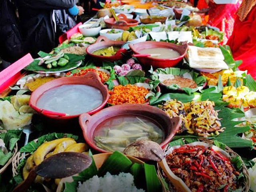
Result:
{"label": "clay bowl body around yellow-green curry, excluding the curry", "polygon": [[[114,40],[109,40],[105,36],[99,36],[94,44],[91,44],[86,48],[86,52],[88,55],[91,56],[91,58],[94,60],[96,63],[101,63],[102,61],[110,61],[114,62],[117,60],[122,59],[123,54],[127,52],[125,48],[121,48],[121,46],[124,44],[123,41],[114,41]],[[99,49],[107,48],[107,47],[120,47],[118,52],[112,56],[100,56],[100,55],[94,55],[93,52]]]}

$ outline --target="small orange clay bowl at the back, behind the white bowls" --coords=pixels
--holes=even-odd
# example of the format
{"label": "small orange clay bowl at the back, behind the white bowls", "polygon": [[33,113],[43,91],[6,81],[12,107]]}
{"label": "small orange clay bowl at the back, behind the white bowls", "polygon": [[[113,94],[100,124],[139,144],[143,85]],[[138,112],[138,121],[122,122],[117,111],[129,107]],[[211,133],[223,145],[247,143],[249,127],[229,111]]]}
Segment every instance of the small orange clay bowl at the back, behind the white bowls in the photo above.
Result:
{"label": "small orange clay bowl at the back, behind the white bowls", "polygon": [[128,19],[124,14],[119,14],[119,21],[116,22],[114,18],[105,19],[104,22],[108,28],[117,28],[122,30],[128,30],[130,27],[137,26],[139,22],[135,19]]}

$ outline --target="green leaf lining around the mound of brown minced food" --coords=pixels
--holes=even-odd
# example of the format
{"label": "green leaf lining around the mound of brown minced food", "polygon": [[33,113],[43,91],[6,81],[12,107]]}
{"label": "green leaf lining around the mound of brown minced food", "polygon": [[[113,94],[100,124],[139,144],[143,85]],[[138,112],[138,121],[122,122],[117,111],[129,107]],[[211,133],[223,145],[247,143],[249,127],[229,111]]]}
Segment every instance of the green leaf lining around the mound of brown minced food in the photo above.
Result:
{"label": "green leaf lining around the mound of brown minced food", "polygon": [[198,90],[202,90],[204,86],[206,85],[206,78],[204,76],[200,76],[199,73],[194,72],[193,70],[189,69],[180,69],[180,68],[158,68],[154,72],[152,72],[151,79],[152,80],[159,80],[158,74],[171,74],[174,76],[184,76],[184,74],[189,74],[192,77],[192,80],[196,82],[197,87],[196,88],[189,88],[184,87],[181,88],[178,86],[178,84],[172,84],[170,86],[166,86],[167,89],[170,90],[181,90],[186,92],[187,94],[191,94],[193,92],[196,92]]}

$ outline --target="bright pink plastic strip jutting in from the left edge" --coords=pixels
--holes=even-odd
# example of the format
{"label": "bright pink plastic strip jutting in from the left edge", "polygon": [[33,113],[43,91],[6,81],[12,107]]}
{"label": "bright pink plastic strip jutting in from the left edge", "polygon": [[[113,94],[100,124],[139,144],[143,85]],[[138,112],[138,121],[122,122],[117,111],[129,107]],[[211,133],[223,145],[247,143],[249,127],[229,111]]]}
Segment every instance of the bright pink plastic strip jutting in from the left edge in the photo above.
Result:
{"label": "bright pink plastic strip jutting in from the left edge", "polygon": [[20,71],[28,66],[34,59],[28,53],[18,61],[14,62],[8,68],[0,72],[0,93],[2,93],[8,86],[18,81],[21,77]]}

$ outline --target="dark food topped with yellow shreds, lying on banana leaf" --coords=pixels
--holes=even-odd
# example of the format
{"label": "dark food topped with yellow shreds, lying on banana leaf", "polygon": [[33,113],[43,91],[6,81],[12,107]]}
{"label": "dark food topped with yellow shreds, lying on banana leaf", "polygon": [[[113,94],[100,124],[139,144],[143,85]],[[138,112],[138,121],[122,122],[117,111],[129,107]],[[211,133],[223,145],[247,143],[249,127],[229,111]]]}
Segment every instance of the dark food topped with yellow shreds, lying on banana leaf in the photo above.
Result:
{"label": "dark food topped with yellow shreds, lying on banana leaf", "polygon": [[170,99],[160,108],[171,118],[175,116],[182,118],[178,134],[187,131],[189,134],[207,137],[212,132],[218,134],[224,130],[220,128],[220,118],[218,112],[214,110],[214,105],[212,101],[192,101],[183,104],[176,99]]}

